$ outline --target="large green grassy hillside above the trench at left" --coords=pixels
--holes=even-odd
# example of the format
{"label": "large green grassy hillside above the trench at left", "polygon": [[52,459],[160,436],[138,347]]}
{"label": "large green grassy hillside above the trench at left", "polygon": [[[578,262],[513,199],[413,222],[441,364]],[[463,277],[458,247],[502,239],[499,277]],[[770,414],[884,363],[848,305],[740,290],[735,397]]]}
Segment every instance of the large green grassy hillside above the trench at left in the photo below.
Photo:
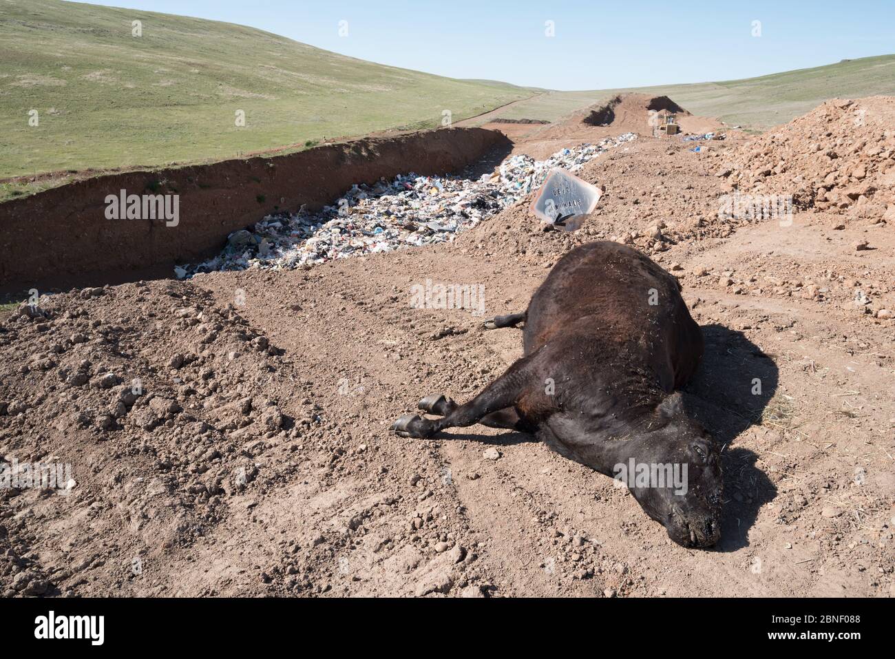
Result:
{"label": "large green grassy hillside above the trench at left", "polygon": [[[141,37],[132,36],[135,20]],[[59,0],[0,0],[0,62],[0,178],[434,126],[445,109],[458,120],[533,95],[230,23]]]}

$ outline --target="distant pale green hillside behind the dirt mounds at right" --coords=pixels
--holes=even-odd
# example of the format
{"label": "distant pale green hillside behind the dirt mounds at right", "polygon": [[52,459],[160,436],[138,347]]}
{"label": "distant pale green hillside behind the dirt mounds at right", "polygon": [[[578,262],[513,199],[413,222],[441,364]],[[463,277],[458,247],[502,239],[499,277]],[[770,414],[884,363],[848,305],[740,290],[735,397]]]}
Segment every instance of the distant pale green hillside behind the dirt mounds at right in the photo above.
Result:
{"label": "distant pale green hillside behind the dirt mounds at right", "polygon": [[695,115],[715,116],[730,125],[761,130],[804,115],[828,98],[895,95],[895,55],[864,57],[745,80],[626,90],[553,91],[509,107],[500,115],[555,121],[620,91],[664,94]]}

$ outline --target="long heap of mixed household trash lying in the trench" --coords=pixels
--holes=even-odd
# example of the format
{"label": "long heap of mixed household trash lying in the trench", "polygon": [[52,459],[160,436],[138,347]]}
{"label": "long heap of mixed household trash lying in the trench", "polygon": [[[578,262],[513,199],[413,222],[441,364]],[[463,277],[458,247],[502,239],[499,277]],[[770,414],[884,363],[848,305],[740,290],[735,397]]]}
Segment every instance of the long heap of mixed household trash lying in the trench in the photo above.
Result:
{"label": "long heap of mixed household trash lying in the trench", "polygon": [[635,133],[563,149],[546,160],[507,158],[478,180],[398,175],[388,183],[354,185],[317,212],[268,215],[254,231],[227,237],[215,258],[175,267],[177,278],[214,270],[294,269],[360,254],[449,242],[536,190],[551,169],[575,172],[601,153],[635,140]]}

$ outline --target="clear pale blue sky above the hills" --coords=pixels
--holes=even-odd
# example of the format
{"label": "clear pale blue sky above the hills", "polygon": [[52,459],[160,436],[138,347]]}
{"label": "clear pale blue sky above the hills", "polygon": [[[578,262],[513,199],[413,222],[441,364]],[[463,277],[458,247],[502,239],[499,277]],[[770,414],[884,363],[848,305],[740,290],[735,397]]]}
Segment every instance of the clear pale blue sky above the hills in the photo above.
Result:
{"label": "clear pale blue sky above the hills", "polygon": [[[381,64],[559,90],[731,80],[895,53],[893,0],[93,4],[251,25]],[[545,35],[546,21],[555,36]]]}

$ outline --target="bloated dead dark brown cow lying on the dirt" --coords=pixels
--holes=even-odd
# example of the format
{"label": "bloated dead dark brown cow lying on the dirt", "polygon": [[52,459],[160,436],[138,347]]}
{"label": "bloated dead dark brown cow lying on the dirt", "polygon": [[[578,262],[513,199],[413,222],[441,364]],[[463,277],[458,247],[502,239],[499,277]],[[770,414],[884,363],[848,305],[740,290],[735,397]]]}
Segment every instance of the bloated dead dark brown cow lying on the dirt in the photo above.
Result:
{"label": "bloated dead dark brown cow lying on the dirt", "polygon": [[[568,252],[535,292],[524,356],[465,405],[440,394],[404,415],[402,437],[485,424],[536,435],[550,449],[623,481],[646,514],[684,546],[720,537],[720,455],[689,418],[680,393],[703,355],[703,336],[677,279],[622,244]],[[676,477],[677,476],[677,477]]]}

